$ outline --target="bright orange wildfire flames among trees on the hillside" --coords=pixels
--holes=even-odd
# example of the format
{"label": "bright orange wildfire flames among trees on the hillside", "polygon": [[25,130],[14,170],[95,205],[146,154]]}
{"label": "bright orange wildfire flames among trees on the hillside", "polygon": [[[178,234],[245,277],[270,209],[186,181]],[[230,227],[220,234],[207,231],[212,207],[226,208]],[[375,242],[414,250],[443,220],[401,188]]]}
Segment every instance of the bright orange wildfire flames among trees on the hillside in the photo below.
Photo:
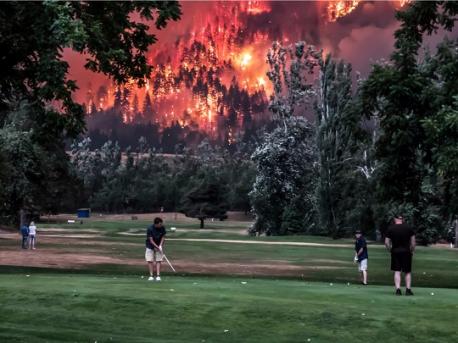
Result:
{"label": "bright orange wildfire flames among trees on the hillside", "polygon": [[[351,13],[361,1],[319,3],[327,21]],[[403,5],[406,1],[401,1]],[[178,123],[226,135],[266,119],[271,86],[265,56],[272,40],[263,31],[246,32],[247,18],[271,12],[263,1],[219,2],[199,18],[196,29],[173,46],[157,44],[148,61],[154,66],[146,87],[134,82],[88,90],[88,113],[118,109],[124,122]],[[242,19],[245,20],[242,20]],[[282,37],[284,43],[288,37]],[[224,128],[224,130],[222,129]]]}

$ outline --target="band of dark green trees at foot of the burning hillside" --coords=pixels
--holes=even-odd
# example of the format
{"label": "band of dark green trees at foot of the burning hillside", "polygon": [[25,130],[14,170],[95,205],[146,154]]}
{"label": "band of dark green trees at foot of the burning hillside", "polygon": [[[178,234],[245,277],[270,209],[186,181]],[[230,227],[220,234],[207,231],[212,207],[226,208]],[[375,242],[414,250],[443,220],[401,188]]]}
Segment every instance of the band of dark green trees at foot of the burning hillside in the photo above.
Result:
{"label": "band of dark green trees at foot of the burning hillside", "polygon": [[114,213],[163,208],[191,217],[198,207],[202,219],[250,209],[254,168],[242,151],[229,154],[203,141],[193,152],[162,155],[148,148],[143,137],[138,149],[124,153],[111,141],[95,150],[90,145],[85,139],[71,152],[73,171],[83,183],[75,200],[79,206]]}

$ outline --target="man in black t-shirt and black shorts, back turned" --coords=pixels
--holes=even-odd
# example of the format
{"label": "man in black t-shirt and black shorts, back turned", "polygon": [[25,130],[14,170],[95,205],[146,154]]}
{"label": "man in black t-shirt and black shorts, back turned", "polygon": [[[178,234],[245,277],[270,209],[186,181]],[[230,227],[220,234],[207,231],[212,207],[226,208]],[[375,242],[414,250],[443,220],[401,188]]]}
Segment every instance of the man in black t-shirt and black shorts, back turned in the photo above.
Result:
{"label": "man in black t-shirt and black shorts, back turned", "polygon": [[394,224],[388,227],[385,246],[391,252],[391,270],[394,271],[396,295],[401,292],[401,273],[404,273],[406,295],[412,292],[412,255],[415,251],[415,230],[404,223],[402,216],[394,218]]}

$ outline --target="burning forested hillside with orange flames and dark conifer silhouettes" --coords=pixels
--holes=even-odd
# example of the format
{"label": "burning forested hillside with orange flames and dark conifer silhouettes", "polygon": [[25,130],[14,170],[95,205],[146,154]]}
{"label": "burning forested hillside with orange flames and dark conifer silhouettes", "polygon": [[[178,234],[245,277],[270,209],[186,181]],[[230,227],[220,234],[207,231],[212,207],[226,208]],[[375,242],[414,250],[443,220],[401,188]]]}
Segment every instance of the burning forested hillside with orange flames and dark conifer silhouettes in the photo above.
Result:
{"label": "burning forested hillside with orange flames and dark conifer silhouettes", "polygon": [[289,44],[305,39],[334,51],[318,33],[360,3],[291,4],[295,21],[288,25],[279,18],[285,6],[282,3],[185,2],[183,13],[186,17],[189,12],[189,23],[182,32],[170,30],[159,37],[148,55],[154,70],[145,87],[139,88],[133,81],[121,86],[110,82],[88,85],[84,103],[89,129],[111,133],[112,127],[100,119],[109,113],[125,126],[148,124],[161,135],[173,128],[179,132],[177,141],[192,132],[195,137],[191,141],[204,135],[231,145],[237,137],[271,120],[266,53],[272,42]]}

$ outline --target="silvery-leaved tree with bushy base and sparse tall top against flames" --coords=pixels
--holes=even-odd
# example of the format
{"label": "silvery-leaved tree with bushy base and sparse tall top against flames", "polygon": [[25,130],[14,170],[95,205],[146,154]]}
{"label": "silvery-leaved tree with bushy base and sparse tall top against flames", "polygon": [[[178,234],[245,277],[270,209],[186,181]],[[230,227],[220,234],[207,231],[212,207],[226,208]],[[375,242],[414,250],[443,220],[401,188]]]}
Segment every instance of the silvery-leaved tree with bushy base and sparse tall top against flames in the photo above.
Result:
{"label": "silvery-leaved tree with bushy base and sparse tall top against flames", "polygon": [[305,42],[274,42],[267,76],[274,87],[269,109],[282,124],[266,134],[252,155],[256,181],[250,193],[256,222],[252,233],[310,232],[315,217],[315,131],[302,115],[315,89],[312,74],[321,52]]}

